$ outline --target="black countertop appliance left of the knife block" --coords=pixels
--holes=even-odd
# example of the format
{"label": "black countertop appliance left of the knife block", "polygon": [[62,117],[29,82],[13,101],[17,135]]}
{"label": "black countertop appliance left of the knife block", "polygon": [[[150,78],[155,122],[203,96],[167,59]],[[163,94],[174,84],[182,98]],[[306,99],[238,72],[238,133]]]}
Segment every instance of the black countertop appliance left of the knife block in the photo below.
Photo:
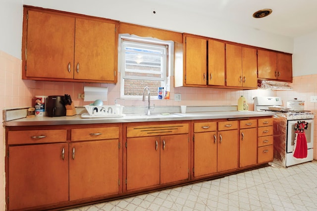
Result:
{"label": "black countertop appliance left of the knife block", "polygon": [[49,117],[66,116],[65,96],[52,95],[46,99],[46,112]]}

